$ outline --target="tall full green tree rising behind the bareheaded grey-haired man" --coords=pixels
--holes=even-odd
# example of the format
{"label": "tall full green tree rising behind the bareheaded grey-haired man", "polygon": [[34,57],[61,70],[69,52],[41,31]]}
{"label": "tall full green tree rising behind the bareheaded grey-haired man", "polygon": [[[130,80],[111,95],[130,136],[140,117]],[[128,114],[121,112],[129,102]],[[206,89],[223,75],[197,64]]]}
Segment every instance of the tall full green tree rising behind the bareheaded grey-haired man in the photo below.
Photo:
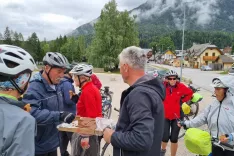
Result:
{"label": "tall full green tree rising behind the bareheaded grey-haired man", "polygon": [[127,11],[119,12],[115,0],[111,0],[95,24],[95,36],[88,48],[89,61],[95,66],[112,68],[118,64],[117,57],[123,48],[138,44],[134,18]]}

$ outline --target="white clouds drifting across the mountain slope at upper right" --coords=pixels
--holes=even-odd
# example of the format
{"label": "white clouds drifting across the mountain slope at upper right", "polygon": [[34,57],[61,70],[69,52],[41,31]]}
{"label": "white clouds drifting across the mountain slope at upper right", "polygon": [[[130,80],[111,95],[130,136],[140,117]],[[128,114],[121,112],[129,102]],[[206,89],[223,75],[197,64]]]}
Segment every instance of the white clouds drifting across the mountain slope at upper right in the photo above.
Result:
{"label": "white clouds drifting across the mountain slope at upper right", "polygon": [[[137,20],[140,20],[151,18],[152,15],[160,16],[169,9],[172,11],[183,11],[183,2],[185,2],[185,0],[148,0],[147,4],[151,6],[151,9],[145,12],[134,10],[132,15],[137,15]],[[194,11],[195,14],[191,19],[196,20],[198,25],[204,26],[209,24],[216,15],[219,15],[220,10],[218,9],[218,2],[218,0],[187,0],[186,13]],[[176,18],[177,15],[173,13],[172,16],[174,17],[176,26],[180,26],[181,21],[179,18]]]}

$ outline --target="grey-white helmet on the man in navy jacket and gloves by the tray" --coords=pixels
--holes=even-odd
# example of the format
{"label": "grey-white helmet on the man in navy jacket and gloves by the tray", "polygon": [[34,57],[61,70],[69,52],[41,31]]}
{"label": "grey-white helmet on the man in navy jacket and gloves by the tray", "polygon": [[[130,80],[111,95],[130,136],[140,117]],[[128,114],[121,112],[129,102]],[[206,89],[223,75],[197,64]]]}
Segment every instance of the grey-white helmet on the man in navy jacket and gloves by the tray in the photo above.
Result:
{"label": "grey-white helmet on the man in navy jacket and gloves by the tray", "polygon": [[58,68],[68,68],[70,65],[67,58],[58,52],[47,52],[43,58],[43,63]]}

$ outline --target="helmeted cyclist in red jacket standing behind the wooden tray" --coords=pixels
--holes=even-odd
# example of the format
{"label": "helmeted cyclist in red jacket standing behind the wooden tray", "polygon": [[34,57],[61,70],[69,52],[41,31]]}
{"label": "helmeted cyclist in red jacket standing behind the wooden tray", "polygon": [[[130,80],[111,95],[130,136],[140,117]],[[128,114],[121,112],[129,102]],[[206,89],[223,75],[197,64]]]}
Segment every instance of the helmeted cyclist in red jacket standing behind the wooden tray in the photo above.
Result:
{"label": "helmeted cyclist in red jacket standing behind the wooden tray", "polygon": [[[73,75],[75,85],[81,88],[81,94],[76,105],[76,115],[89,118],[102,117],[101,94],[90,78],[93,74],[93,67],[87,64],[78,64],[70,73]],[[79,134],[74,134],[72,140],[72,155],[79,156],[83,152],[83,149],[87,148],[87,146],[81,147],[82,141],[89,142],[90,144],[90,148],[86,150],[85,155],[98,155],[98,137],[84,137]]]}

